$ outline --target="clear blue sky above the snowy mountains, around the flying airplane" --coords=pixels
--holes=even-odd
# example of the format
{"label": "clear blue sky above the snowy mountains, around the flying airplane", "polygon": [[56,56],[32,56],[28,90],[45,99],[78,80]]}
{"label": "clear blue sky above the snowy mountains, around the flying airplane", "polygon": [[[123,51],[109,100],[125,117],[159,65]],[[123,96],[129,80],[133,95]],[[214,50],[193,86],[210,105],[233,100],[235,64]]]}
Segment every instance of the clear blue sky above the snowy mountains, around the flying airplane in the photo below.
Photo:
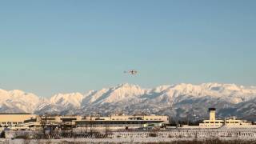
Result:
{"label": "clear blue sky above the snowy mountains, around the flying airplane", "polygon": [[[119,83],[256,86],[256,1],[0,2],[0,88],[39,96]],[[123,74],[136,69],[137,76]]]}

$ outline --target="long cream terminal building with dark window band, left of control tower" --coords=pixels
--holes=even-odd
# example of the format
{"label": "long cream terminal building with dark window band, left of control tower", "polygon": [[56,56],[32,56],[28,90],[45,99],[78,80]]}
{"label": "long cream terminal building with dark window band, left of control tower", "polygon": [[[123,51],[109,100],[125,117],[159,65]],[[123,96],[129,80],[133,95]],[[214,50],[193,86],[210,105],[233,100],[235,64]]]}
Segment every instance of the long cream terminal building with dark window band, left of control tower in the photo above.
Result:
{"label": "long cream terminal building with dark window band, left of control tower", "polygon": [[45,126],[53,126],[58,129],[78,128],[94,130],[118,130],[118,129],[135,129],[140,127],[165,126],[169,123],[168,116],[161,115],[110,115],[101,116],[41,116],[34,119],[26,120],[24,126],[30,127],[31,130],[41,128],[42,122]]}

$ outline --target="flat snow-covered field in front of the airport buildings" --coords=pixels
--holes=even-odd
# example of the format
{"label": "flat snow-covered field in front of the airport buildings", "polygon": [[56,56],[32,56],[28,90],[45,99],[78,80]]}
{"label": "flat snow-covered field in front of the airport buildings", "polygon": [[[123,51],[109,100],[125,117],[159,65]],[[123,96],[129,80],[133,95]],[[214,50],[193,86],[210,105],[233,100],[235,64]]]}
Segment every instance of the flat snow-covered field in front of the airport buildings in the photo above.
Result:
{"label": "flat snow-covered field in front of the airport buildings", "polygon": [[[11,134],[7,132],[6,134]],[[24,133],[24,131],[23,131]],[[14,134],[22,134],[14,132]],[[82,134],[82,133],[81,133]],[[85,137],[83,137],[85,136]],[[148,130],[148,131],[110,131],[106,138],[97,138],[96,134],[83,135],[77,138],[61,139],[0,139],[0,143],[65,143],[65,142],[174,142],[174,141],[203,141],[205,139],[246,140],[256,142],[255,129],[216,129],[216,130]]]}

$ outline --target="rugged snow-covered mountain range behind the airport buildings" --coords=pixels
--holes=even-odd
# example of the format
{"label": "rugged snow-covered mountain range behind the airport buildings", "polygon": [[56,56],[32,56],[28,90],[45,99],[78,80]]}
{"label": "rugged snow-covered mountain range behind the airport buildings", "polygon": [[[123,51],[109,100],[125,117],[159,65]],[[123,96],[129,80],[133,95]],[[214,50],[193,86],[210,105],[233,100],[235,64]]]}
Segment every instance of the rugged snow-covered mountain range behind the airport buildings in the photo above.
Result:
{"label": "rugged snow-covered mountain range behind the airport buildings", "polygon": [[168,114],[174,119],[207,117],[216,107],[218,117],[256,120],[256,87],[234,84],[178,84],[143,89],[121,84],[86,94],[56,94],[40,98],[21,90],[0,90],[0,113],[35,114]]}

